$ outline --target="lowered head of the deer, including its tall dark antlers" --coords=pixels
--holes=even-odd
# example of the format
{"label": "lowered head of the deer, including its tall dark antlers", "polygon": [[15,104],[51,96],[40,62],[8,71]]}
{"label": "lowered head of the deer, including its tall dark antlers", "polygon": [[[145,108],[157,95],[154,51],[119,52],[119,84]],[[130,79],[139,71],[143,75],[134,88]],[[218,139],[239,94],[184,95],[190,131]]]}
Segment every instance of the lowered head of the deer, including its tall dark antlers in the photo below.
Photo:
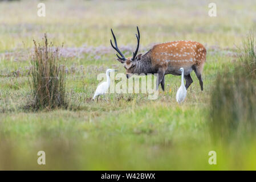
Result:
{"label": "lowered head of the deer, including its tall dark antlers", "polygon": [[112,32],[112,35],[113,35],[113,38],[114,38],[114,41],[115,41],[115,46],[113,46],[112,40],[110,40],[111,46],[120,55],[119,56],[118,54],[116,54],[116,56],[117,56],[116,60],[119,61],[120,63],[124,64],[124,68],[126,69],[126,77],[129,78],[129,77],[132,76],[133,73],[135,73],[136,62],[139,61],[141,59],[141,56],[142,56],[142,54],[137,55],[138,50],[139,50],[139,46],[140,46],[140,31],[139,31],[139,28],[137,27],[138,34],[136,34],[136,38],[137,38],[137,48],[136,48],[136,51],[133,52],[133,56],[132,57],[127,57],[127,58],[125,58],[123,53],[117,47],[116,37],[115,37],[115,34],[113,33],[112,28],[111,28],[111,32]]}

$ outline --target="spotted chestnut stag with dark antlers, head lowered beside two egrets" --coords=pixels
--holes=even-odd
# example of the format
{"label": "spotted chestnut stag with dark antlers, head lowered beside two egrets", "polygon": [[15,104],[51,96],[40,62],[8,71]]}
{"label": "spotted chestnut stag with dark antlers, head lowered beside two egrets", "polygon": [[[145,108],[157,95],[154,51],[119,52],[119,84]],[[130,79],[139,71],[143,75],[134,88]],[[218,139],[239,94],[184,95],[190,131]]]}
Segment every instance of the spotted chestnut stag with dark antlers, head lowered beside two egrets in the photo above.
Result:
{"label": "spotted chestnut stag with dark antlers, head lowered beside two egrets", "polygon": [[110,40],[111,46],[119,53],[120,56],[116,54],[118,57],[117,60],[124,64],[127,78],[131,77],[134,73],[139,75],[141,73],[158,73],[156,88],[158,89],[161,83],[162,90],[164,90],[164,76],[167,74],[181,75],[179,70],[182,67],[184,68],[186,89],[188,89],[189,85],[193,82],[190,73],[194,70],[200,82],[201,90],[203,90],[202,69],[204,68],[206,60],[206,49],[202,44],[187,40],[161,43],[153,46],[153,48],[144,55],[137,55],[140,45],[140,31],[137,27],[136,51],[133,52],[132,57],[125,58],[117,47],[116,37],[112,29],[111,32],[115,41],[115,46],[113,46]]}

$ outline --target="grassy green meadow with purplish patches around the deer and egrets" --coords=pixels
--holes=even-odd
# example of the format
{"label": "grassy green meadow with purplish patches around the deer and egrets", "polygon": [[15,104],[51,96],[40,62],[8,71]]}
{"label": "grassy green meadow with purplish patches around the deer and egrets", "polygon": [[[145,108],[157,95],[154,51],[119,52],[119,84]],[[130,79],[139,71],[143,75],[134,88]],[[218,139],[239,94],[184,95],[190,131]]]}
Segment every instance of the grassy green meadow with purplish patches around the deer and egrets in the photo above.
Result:
{"label": "grassy green meadow with purplish patches around the deer and egrets", "polygon": [[[216,17],[208,16],[211,1],[43,2],[46,17],[37,16],[37,1],[0,2],[1,170],[256,169],[255,139],[216,141],[209,127],[216,77],[234,68],[237,47],[256,26],[255,1],[215,1]],[[180,77],[167,75],[157,100],[107,94],[92,101],[99,73],[125,72],[110,46],[110,28],[132,55],[136,26],[141,53],[172,40],[204,44],[204,91],[192,73],[185,103],[178,105]],[[55,46],[64,43],[68,109],[26,107],[32,40],[41,42],[44,32]],[[37,163],[40,150],[46,165]],[[217,165],[209,165],[209,151],[217,152]]]}

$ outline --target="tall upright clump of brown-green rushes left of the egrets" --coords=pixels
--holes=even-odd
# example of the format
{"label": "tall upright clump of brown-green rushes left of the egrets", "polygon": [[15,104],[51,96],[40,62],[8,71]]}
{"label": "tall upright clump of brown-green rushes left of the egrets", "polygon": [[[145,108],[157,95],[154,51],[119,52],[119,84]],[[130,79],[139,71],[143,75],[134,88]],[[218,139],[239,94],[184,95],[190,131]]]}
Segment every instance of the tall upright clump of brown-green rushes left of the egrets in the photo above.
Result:
{"label": "tall upright clump of brown-green rushes left of the egrets", "polygon": [[48,45],[44,34],[43,44],[36,44],[31,57],[31,78],[29,84],[33,95],[34,109],[66,107],[66,73],[59,48]]}

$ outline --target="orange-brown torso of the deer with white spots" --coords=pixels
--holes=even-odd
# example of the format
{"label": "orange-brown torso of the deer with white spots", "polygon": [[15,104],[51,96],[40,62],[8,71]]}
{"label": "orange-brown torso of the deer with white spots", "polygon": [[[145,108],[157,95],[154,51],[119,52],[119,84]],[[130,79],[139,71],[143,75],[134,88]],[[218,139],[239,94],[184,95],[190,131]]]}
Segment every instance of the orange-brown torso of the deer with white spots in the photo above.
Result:
{"label": "orange-brown torso of the deer with white spots", "polygon": [[151,50],[152,66],[164,68],[167,74],[180,75],[178,69],[181,67],[185,73],[191,72],[193,65],[204,64],[205,59],[205,47],[193,41],[180,40],[157,44]]}

